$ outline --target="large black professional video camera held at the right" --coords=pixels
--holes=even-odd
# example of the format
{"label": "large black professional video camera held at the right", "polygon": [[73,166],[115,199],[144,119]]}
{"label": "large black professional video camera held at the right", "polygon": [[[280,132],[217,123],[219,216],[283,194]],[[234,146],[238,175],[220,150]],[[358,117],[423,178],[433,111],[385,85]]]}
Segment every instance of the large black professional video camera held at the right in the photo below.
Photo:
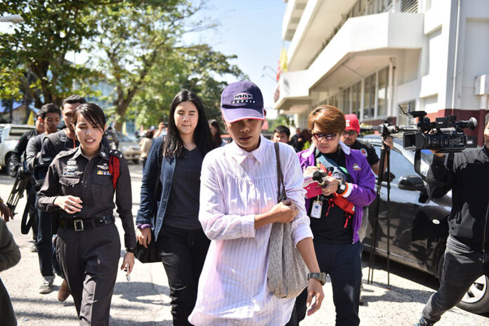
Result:
{"label": "large black professional video camera held at the right", "polygon": [[404,133],[404,148],[406,150],[437,150],[438,152],[461,152],[467,147],[475,147],[476,143],[467,138],[463,129],[476,129],[477,120],[455,121],[457,117],[438,117],[431,122],[424,111],[408,111],[407,115],[419,118],[418,131]]}

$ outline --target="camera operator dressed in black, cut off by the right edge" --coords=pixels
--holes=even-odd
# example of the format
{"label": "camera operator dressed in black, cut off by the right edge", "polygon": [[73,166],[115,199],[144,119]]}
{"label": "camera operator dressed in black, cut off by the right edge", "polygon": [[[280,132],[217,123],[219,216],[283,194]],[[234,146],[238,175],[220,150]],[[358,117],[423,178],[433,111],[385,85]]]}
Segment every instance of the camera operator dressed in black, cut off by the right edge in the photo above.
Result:
{"label": "camera operator dressed in black, cut off by the right edge", "polygon": [[485,116],[484,146],[464,150],[453,158],[434,153],[428,171],[430,197],[452,190],[452,211],[438,292],[431,295],[417,326],[429,326],[455,306],[471,284],[489,275],[489,114]]}

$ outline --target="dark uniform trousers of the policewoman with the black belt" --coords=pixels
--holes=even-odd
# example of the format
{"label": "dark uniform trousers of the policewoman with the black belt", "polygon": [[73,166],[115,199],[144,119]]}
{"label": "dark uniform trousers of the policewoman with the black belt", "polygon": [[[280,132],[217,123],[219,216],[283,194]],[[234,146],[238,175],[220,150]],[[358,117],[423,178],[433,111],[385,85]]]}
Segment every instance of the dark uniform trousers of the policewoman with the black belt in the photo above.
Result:
{"label": "dark uniform trousers of the policewoman with the black belt", "polygon": [[114,223],[75,231],[58,228],[56,254],[80,326],[108,326],[121,242]]}

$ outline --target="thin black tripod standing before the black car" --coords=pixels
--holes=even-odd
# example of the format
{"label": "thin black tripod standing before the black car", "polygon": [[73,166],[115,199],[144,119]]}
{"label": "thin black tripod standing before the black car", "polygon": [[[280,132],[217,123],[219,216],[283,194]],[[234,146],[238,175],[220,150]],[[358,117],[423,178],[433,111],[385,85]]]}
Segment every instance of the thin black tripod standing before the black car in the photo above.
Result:
{"label": "thin black tripod standing before the black car", "polygon": [[382,147],[380,148],[379,177],[377,178],[377,197],[375,198],[374,223],[372,225],[372,239],[370,242],[370,262],[368,266],[367,284],[372,284],[374,279],[375,252],[377,249],[377,224],[379,222],[380,193],[382,181],[384,181],[384,166],[387,165],[387,285],[390,285],[390,242],[391,242],[391,149],[385,141],[389,135],[382,133]]}

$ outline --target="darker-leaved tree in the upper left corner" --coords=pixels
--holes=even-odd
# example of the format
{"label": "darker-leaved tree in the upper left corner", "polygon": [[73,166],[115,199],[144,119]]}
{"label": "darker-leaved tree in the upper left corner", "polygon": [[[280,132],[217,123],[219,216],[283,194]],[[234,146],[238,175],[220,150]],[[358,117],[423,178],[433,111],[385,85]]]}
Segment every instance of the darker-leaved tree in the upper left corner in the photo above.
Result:
{"label": "darker-leaved tree in the upper left corner", "polygon": [[[90,13],[103,5],[89,0],[2,1],[0,13],[19,14],[24,20],[15,24],[12,34],[0,34],[2,74],[18,81],[8,89],[13,93],[22,89],[35,107],[60,105],[73,92],[74,81],[78,93],[90,95],[88,85],[98,76],[87,67],[73,65],[65,56],[69,51],[80,51],[84,40],[96,34]],[[30,74],[37,77],[34,83],[26,78]]]}

